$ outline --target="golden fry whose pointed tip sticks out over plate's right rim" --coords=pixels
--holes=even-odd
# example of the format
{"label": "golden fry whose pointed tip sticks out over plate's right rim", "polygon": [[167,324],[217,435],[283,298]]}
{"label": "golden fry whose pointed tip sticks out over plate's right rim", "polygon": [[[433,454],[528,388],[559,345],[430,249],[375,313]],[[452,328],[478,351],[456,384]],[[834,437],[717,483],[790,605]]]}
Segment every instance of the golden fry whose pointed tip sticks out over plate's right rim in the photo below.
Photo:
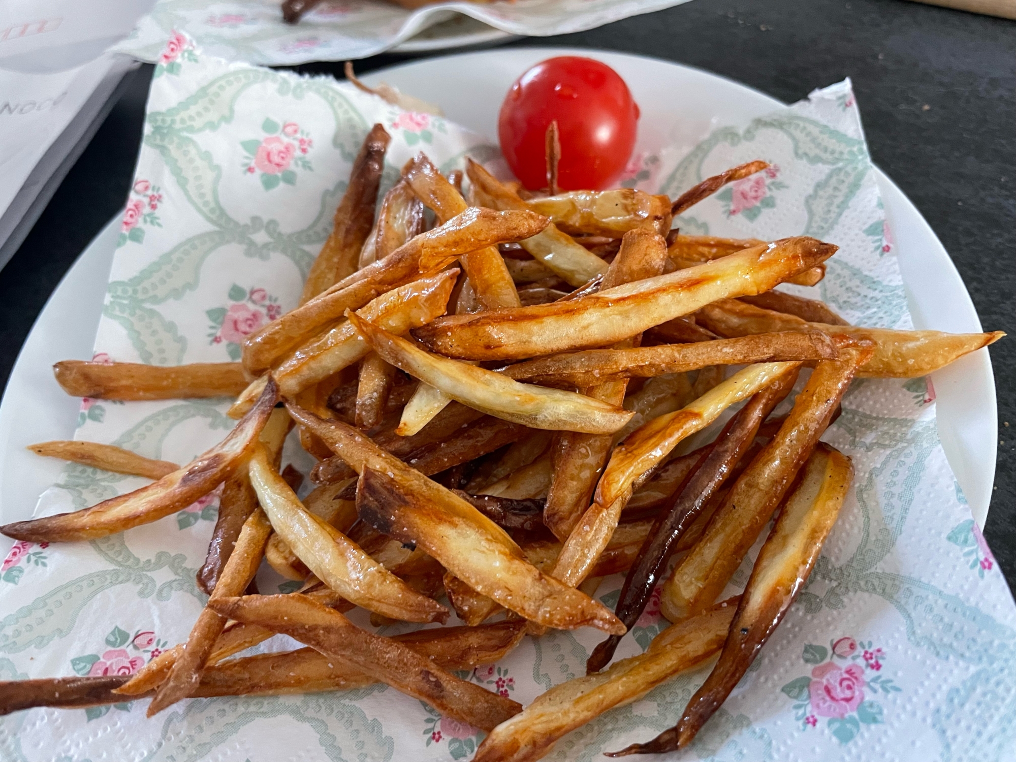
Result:
{"label": "golden fry whose pointed tip sticks out over plate's right rim", "polygon": [[1003,331],[943,333],[809,323],[793,315],[765,310],[736,300],[722,300],[703,307],[699,315],[709,330],[724,336],[743,336],[771,330],[810,330],[822,331],[834,338],[844,336],[859,341],[871,341],[875,352],[859,372],[861,378],[927,376],[1006,335]]}

